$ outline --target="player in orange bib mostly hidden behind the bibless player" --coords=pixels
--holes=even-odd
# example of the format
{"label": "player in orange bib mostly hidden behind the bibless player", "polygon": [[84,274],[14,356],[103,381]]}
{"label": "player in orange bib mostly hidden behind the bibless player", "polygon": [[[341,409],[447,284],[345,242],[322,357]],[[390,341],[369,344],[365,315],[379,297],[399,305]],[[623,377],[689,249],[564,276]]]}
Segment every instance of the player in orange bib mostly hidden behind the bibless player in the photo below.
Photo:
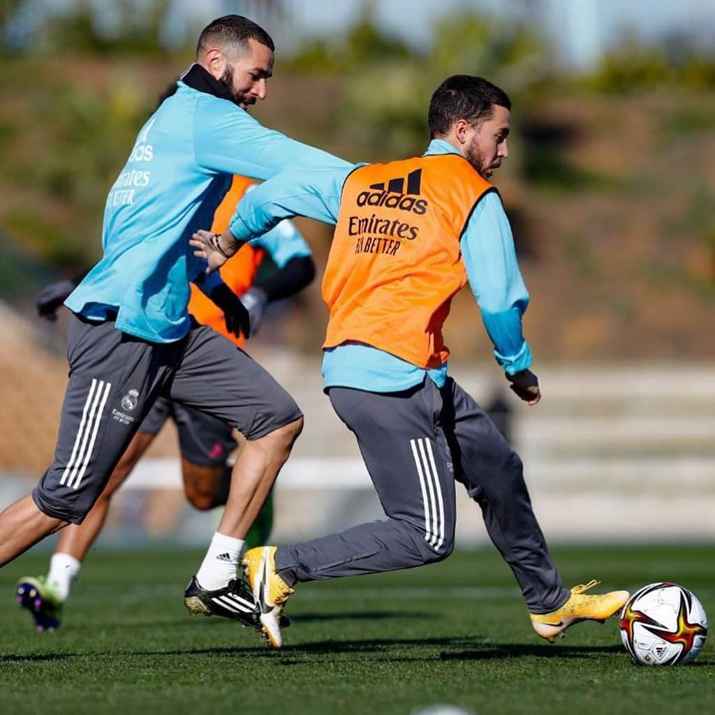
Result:
{"label": "player in orange bib mostly hidden behind the bibless player", "polygon": [[[254,186],[251,179],[233,177],[229,191],[215,212],[213,230],[225,230],[236,204]],[[266,254],[270,255],[278,270],[257,285],[257,272]],[[230,264],[222,268],[221,277],[240,296],[250,317],[251,333],[255,335],[265,306],[294,295],[310,284],[315,277],[315,265],[310,247],[295,226],[291,222],[283,222],[267,232],[256,245],[244,247]],[[76,284],[77,281],[61,281],[46,287],[37,300],[39,314],[54,320],[56,310]],[[202,325],[210,325],[237,347],[243,347],[243,334],[235,335],[227,330],[223,312],[194,285],[189,312]],[[231,466],[227,464],[227,457],[237,446],[231,425],[207,413],[159,398],[129,443],[92,511],[81,525],[71,524],[61,531],[47,576],[20,579],[17,601],[22,608],[30,611],[39,631],[52,631],[59,627],[71,582],[79,574],[89,547],[102,531],[112,496],[132,473],[169,418],[174,419],[179,433],[184,492],[189,503],[202,511],[226,503],[231,483]],[[265,543],[272,527],[272,511],[269,497],[246,537],[249,546]]]}

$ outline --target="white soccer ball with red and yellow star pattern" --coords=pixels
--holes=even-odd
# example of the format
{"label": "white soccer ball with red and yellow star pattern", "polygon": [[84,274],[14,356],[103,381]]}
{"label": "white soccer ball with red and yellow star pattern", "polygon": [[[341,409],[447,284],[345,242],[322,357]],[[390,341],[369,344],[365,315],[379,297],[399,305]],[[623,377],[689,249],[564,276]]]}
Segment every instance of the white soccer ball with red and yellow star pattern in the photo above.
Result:
{"label": "white soccer ball with red and yellow star pattern", "polygon": [[674,666],[699,654],[708,617],[693,593],[677,583],[650,583],[621,611],[621,640],[636,663]]}

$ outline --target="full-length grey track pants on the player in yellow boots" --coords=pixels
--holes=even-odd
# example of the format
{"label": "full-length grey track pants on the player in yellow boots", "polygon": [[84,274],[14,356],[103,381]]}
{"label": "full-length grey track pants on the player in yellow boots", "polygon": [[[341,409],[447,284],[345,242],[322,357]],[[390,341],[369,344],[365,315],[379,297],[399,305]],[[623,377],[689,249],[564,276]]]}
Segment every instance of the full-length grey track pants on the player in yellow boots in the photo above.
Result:
{"label": "full-length grey track pants on the player in yellow boots", "polygon": [[329,396],[358,439],[388,518],[278,548],[276,568],[287,583],[395,571],[449,556],[457,480],[480,506],[529,610],[548,613],[567,600],[521,459],[454,380],[440,389],[425,378],[400,393],[330,388]]}

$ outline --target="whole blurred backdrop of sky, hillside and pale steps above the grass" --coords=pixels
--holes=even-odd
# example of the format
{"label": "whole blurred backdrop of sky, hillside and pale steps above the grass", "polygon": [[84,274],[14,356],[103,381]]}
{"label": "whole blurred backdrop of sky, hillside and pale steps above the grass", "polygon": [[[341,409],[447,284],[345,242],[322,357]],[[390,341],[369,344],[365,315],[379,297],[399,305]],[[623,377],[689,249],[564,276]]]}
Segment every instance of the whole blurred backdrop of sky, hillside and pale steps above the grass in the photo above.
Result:
{"label": "whole blurred backdrop of sky, hillside and pale steps above the grass", "polygon": [[[199,31],[236,12],[276,41],[255,116],[353,161],[420,154],[430,94],[481,74],[513,101],[498,186],[531,292],[543,400],[504,390],[468,290],[453,376],[523,456],[551,541],[715,538],[715,5],[631,0],[0,0],[0,506],[51,460],[66,316],[47,282],[100,255],[104,199]],[[319,278],[272,306],[248,350],[305,410],[279,479],[279,541],[380,506],[320,384],[330,229],[300,221]],[[172,425],[114,502],[99,548],[205,543]],[[458,487],[458,491],[461,488]],[[485,541],[460,495],[458,545]]]}

